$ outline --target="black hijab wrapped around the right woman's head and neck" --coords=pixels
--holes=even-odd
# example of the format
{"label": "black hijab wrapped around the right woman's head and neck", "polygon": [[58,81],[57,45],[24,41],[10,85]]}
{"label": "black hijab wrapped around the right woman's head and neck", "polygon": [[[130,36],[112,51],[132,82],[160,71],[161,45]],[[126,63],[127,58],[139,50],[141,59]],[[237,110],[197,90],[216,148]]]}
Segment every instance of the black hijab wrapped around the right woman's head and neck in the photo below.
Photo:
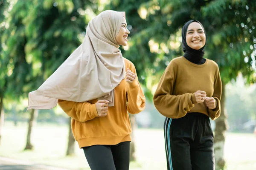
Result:
{"label": "black hijab wrapped around the right woman's head and neck", "polygon": [[[188,22],[185,23],[185,25],[182,28],[182,48],[184,51],[184,57],[189,60],[190,62],[193,62],[195,64],[204,64],[204,62],[206,61],[204,57],[204,47],[202,47],[199,50],[195,50],[193,48],[190,48],[189,45],[187,45],[186,43],[186,32],[188,30],[189,24],[193,23],[193,22],[197,22],[199,23],[202,28],[204,29],[203,25],[197,21],[197,20],[190,20]],[[204,34],[205,34],[205,44],[206,44],[206,32],[204,30]]]}

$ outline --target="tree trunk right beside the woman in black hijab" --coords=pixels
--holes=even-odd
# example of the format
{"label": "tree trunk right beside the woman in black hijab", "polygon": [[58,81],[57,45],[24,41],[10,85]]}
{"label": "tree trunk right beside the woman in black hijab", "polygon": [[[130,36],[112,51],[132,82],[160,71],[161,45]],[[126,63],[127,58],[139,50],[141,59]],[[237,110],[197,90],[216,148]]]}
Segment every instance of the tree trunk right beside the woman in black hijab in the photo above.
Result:
{"label": "tree trunk right beside the woman in black hijab", "polygon": [[215,120],[215,136],[214,136],[214,151],[215,151],[215,169],[224,170],[224,143],[225,132],[228,128],[227,115],[225,109],[225,83],[222,81],[222,94],[221,94],[221,116]]}

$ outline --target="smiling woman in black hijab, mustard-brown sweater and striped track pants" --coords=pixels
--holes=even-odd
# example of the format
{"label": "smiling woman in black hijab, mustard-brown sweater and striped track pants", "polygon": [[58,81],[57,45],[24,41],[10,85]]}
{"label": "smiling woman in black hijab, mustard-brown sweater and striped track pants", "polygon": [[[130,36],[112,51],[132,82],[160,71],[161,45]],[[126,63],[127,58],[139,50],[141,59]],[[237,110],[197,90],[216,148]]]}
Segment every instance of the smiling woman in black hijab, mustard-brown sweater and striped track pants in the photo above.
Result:
{"label": "smiling woman in black hijab, mustard-brown sweater and striped track pants", "polygon": [[168,170],[214,170],[213,133],[209,117],[220,116],[218,65],[204,58],[206,33],[197,20],[182,29],[183,56],[172,59],[154,94],[164,116]]}

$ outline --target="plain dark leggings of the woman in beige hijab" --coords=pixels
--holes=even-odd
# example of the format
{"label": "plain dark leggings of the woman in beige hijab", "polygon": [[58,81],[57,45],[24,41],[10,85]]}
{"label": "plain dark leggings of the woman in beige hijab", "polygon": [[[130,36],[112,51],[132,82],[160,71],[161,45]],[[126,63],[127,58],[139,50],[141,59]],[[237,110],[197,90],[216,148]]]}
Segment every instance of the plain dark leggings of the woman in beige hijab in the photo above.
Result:
{"label": "plain dark leggings of the woman in beige hijab", "polygon": [[83,147],[91,170],[129,170],[130,142]]}

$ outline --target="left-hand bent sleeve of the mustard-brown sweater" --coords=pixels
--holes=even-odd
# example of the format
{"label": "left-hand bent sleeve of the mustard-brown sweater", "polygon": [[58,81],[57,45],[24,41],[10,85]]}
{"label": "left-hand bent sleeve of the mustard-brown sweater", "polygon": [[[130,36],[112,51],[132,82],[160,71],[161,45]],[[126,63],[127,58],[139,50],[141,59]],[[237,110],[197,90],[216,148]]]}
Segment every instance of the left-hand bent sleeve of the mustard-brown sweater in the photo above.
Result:
{"label": "left-hand bent sleeve of the mustard-brown sweater", "polygon": [[172,95],[176,79],[176,65],[170,62],[164,71],[157,90],[154,93],[154,105],[163,116],[169,118],[181,118],[190,111],[196,103],[195,94],[186,93]]}

